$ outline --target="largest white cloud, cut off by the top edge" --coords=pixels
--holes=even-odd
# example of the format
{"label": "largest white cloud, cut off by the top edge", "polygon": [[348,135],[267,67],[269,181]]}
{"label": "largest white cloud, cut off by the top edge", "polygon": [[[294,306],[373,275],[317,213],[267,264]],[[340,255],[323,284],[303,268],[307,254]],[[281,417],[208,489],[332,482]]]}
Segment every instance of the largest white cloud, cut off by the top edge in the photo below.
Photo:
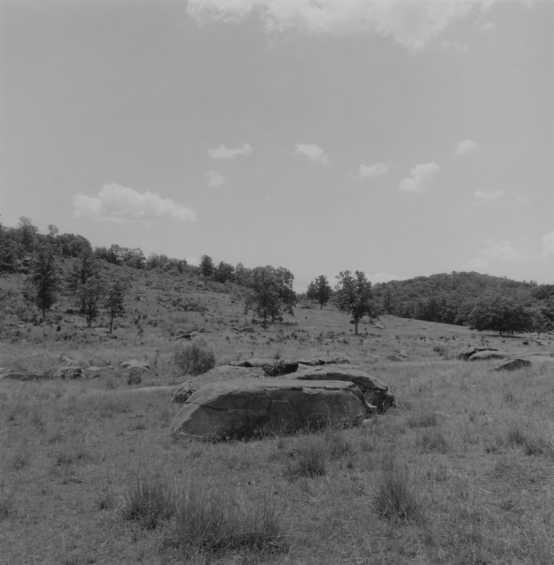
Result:
{"label": "largest white cloud, cut off by the top edge", "polygon": [[239,23],[252,12],[265,30],[296,28],[305,33],[377,33],[416,51],[453,23],[479,18],[495,0],[189,0],[188,14],[199,25]]}

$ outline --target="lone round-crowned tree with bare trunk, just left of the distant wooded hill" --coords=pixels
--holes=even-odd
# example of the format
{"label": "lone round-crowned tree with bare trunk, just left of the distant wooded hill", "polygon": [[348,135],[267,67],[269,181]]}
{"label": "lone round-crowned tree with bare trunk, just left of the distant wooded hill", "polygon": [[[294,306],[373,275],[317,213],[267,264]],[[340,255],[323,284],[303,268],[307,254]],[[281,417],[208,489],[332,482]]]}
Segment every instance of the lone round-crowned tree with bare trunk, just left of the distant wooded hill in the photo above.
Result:
{"label": "lone round-crowned tree with bare trunk, just left of the distant wooded hill", "polygon": [[339,310],[348,312],[354,318],[355,335],[358,333],[358,322],[364,316],[376,317],[379,307],[373,299],[371,282],[365,273],[356,271],[341,271],[337,275],[338,284],[335,286],[334,302]]}

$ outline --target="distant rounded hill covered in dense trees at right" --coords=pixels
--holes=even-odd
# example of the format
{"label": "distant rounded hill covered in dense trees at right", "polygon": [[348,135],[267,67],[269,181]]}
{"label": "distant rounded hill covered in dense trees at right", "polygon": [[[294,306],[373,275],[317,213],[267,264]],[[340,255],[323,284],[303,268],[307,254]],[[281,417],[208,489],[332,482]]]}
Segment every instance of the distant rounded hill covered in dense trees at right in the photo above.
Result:
{"label": "distant rounded hill covered in dense trees at right", "polygon": [[403,318],[465,325],[479,298],[501,294],[540,311],[554,323],[554,285],[539,285],[535,281],[453,271],[377,283],[374,292],[383,311]]}

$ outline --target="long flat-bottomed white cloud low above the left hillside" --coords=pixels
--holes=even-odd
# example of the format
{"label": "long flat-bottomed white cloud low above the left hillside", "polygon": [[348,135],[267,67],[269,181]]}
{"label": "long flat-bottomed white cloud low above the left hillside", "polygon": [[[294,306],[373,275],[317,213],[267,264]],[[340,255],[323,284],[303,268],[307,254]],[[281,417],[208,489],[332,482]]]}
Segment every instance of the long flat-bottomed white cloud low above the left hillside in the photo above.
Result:
{"label": "long flat-bottomed white cloud low above the left hillside", "polygon": [[157,220],[162,217],[196,221],[196,212],[171,198],[161,198],[157,192],[139,193],[128,186],[105,184],[94,196],[76,194],[73,197],[75,218],[89,216],[93,220]]}

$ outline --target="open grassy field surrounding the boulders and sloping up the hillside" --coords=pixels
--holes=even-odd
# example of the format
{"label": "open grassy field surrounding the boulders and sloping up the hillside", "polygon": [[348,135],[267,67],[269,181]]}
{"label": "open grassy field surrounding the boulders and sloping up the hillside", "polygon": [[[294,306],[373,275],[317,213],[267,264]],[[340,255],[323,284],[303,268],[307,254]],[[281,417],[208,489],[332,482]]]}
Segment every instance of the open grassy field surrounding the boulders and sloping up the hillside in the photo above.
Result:
{"label": "open grassy field surrounding the boulders and sloping up the hillside", "polygon": [[[64,355],[115,368],[0,380],[0,563],[553,562],[554,363],[499,373],[456,359],[481,343],[552,353],[551,336],[524,346],[386,316],[354,337],[332,307],[297,308],[248,336],[239,288],[121,273],[133,306],[116,340],[83,329],[68,300],[59,332],[5,311],[5,372],[53,372]],[[141,328],[129,325],[138,313]],[[204,329],[220,364],[340,354],[385,381],[397,407],[354,428],[173,438],[171,392],[133,389],[187,380],[172,358],[178,327]],[[395,351],[405,360],[387,358]],[[128,385],[117,366],[133,358],[152,367]]]}

